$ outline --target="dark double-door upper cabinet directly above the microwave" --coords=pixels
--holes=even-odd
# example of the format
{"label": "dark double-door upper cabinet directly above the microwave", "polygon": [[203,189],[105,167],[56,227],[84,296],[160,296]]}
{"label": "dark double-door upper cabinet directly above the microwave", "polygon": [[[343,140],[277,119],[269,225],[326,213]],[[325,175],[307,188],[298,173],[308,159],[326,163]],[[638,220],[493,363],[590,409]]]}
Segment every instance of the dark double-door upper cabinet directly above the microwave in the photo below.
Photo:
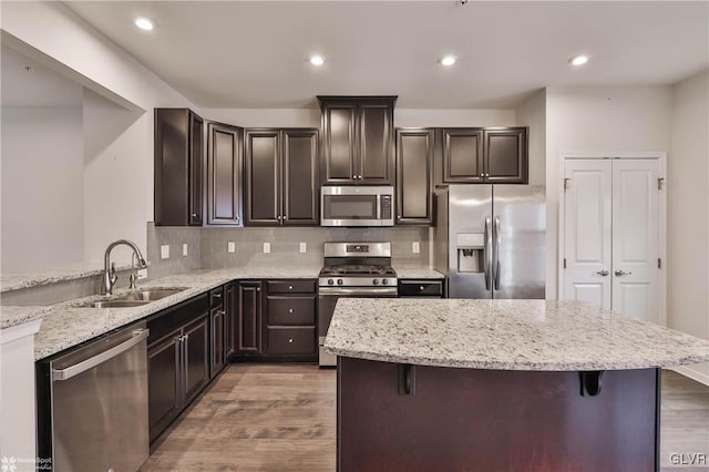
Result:
{"label": "dark double-door upper cabinet directly above the microwave", "polygon": [[321,183],[392,185],[395,96],[318,96]]}

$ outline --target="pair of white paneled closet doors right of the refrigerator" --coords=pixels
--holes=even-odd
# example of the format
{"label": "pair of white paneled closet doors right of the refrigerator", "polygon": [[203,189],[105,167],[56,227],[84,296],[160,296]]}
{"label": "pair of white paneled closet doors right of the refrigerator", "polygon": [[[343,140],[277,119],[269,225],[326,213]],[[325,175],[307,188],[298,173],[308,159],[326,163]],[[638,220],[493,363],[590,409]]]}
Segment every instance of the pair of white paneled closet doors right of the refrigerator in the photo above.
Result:
{"label": "pair of white paneled closet doors right of the refrigerator", "polygon": [[564,298],[658,321],[658,161],[567,160]]}

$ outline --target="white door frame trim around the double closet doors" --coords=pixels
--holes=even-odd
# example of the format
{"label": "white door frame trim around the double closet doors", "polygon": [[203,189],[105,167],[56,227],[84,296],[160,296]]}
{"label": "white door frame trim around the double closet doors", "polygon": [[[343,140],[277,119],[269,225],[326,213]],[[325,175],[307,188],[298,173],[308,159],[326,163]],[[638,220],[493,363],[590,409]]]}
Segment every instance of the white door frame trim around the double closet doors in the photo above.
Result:
{"label": "white door frame trim around the double closet doors", "polygon": [[657,285],[658,285],[658,312],[657,312],[657,321],[667,326],[667,153],[664,151],[638,151],[638,152],[629,152],[629,151],[620,151],[620,152],[612,152],[612,151],[603,151],[603,152],[562,152],[559,153],[559,178],[561,185],[558,186],[558,234],[557,234],[557,255],[556,255],[556,270],[559,275],[557,278],[557,287],[556,294],[557,299],[564,299],[564,280],[565,280],[565,269],[564,269],[564,242],[565,242],[565,224],[564,213],[566,199],[565,199],[565,188],[564,188],[564,176],[566,175],[566,161],[567,160],[631,160],[631,158],[643,158],[643,160],[657,160],[657,175],[658,178],[661,179],[662,185],[659,193],[659,205],[657,208],[657,219],[658,219],[658,230],[657,235],[657,249],[658,257],[661,260],[661,267],[657,274]]}

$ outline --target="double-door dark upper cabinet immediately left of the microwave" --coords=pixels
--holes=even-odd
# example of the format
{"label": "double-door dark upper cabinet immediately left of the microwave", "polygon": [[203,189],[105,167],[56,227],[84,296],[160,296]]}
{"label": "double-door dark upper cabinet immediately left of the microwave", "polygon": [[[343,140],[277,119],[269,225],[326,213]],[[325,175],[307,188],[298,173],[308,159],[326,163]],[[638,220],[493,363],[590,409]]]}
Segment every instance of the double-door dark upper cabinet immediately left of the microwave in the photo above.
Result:
{"label": "double-door dark upper cabinet immediately left of the microwave", "polygon": [[246,224],[319,225],[318,130],[246,130]]}

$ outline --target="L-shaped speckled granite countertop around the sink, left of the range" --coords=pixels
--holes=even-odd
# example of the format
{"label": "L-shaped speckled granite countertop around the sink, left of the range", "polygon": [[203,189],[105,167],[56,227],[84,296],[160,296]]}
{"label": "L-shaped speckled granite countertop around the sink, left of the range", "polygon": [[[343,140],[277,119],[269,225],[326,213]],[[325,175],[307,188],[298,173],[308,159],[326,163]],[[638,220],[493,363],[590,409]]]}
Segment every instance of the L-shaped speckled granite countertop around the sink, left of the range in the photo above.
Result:
{"label": "L-shaped speckled granite countertop around the sink, left of the range", "polygon": [[[320,267],[238,267],[233,269],[195,270],[162,277],[140,284],[138,288],[183,287],[184,290],[150,304],[132,308],[82,308],[80,305],[105,299],[94,295],[47,307],[1,307],[1,328],[31,319],[42,319],[34,338],[35,360],[52,356],[113,329],[143,319],[181,301],[235,279],[249,278],[317,278]],[[129,291],[119,289],[114,296]]]}

